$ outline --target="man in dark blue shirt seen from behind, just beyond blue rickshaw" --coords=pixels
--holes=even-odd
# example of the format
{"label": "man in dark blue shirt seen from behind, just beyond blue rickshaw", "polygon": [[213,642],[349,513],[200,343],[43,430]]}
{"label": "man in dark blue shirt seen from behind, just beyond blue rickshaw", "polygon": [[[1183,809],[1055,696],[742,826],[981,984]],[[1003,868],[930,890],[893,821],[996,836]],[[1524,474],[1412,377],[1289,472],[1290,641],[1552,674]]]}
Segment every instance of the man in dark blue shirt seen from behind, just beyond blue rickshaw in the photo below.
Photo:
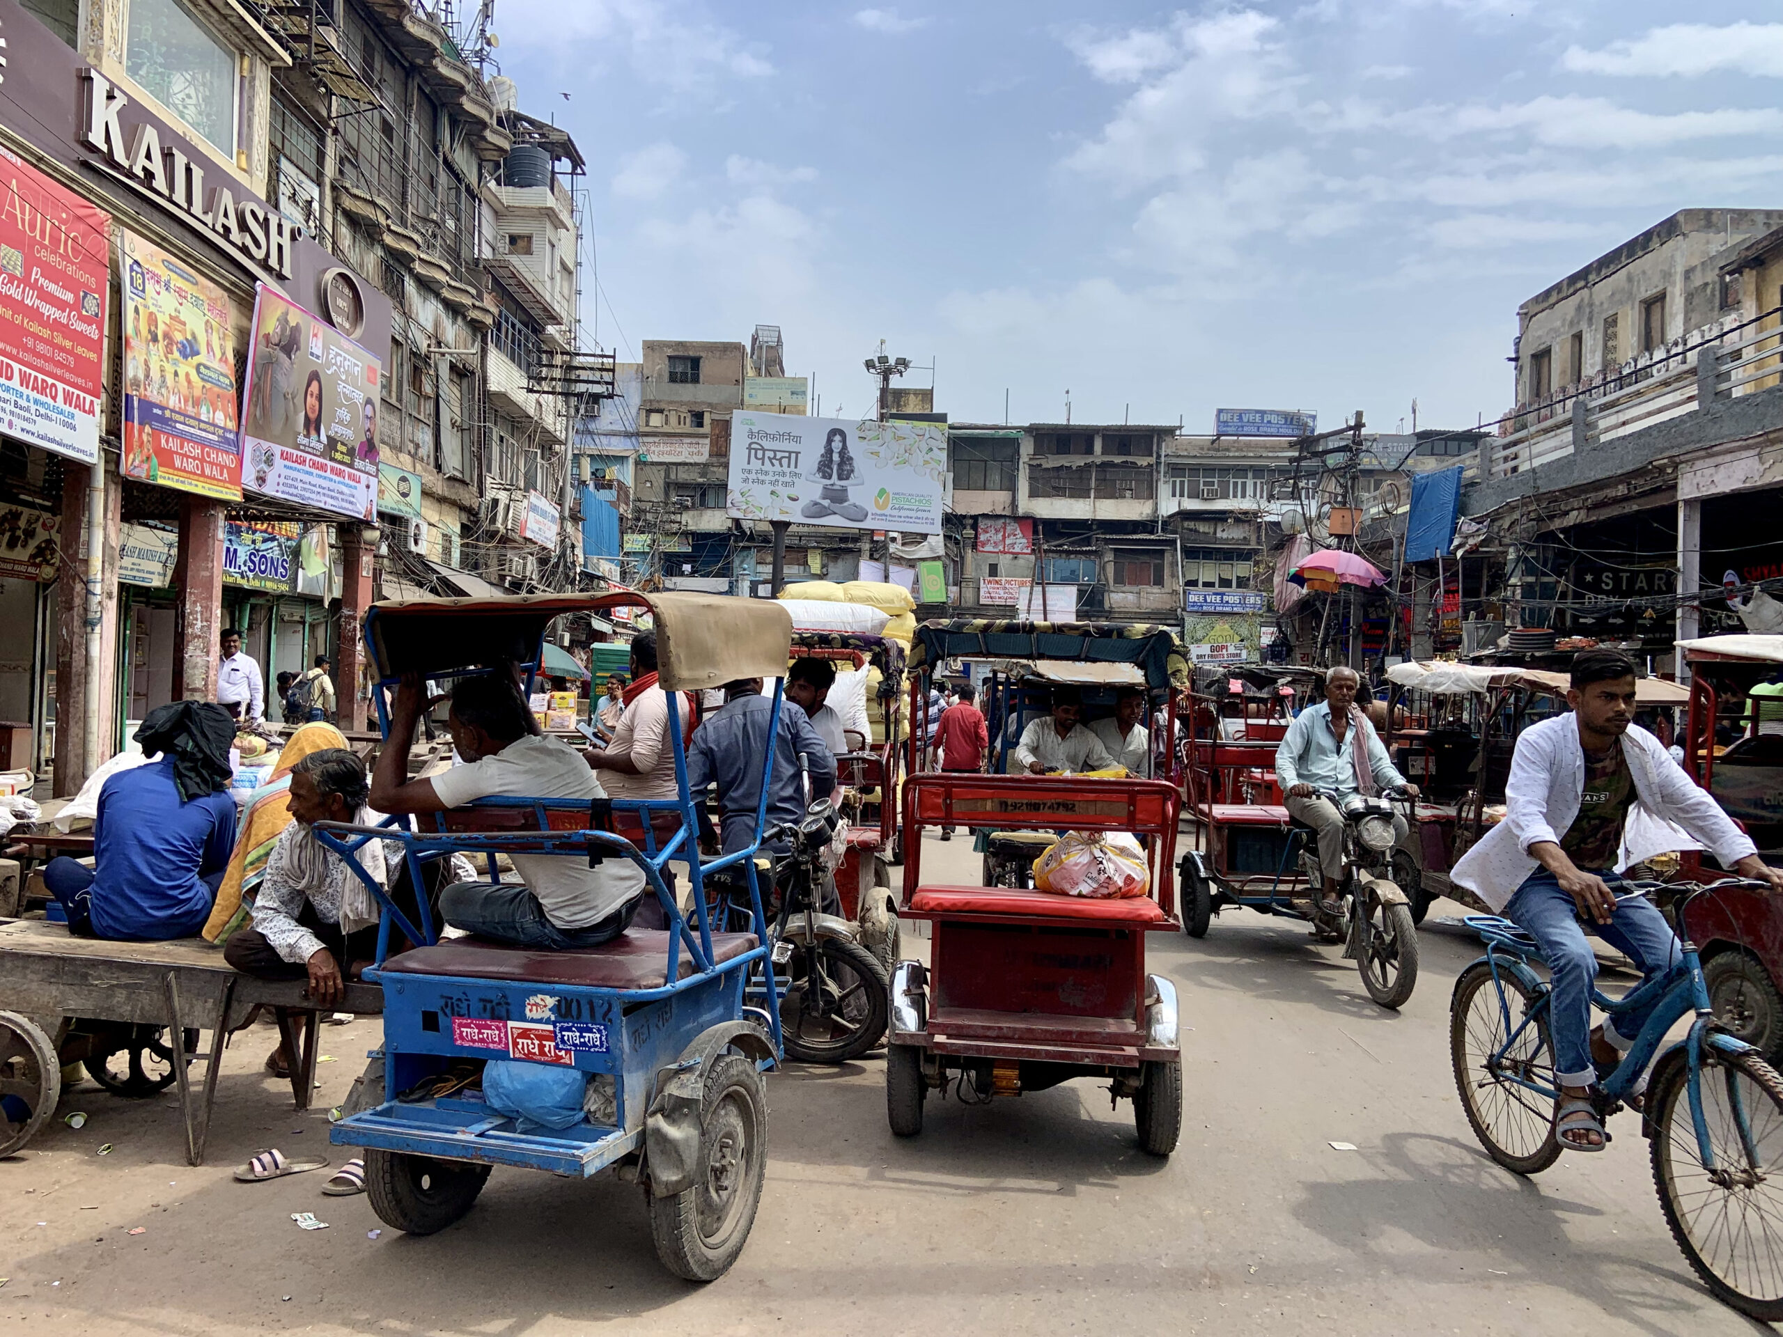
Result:
{"label": "man in dark blue shirt seen from behind, just beyond blue rickshaw", "polygon": [[[724,685],[724,704],[694,731],[686,751],[686,786],[699,795],[719,786],[724,820],[724,852],[745,849],[756,834],[756,804],[761,800],[761,759],[768,747],[768,717],[774,702],[761,695],[761,679]],[[799,758],[811,775],[811,797],[827,799],[836,788],[836,758],[818,738],[811,720],[792,701],[781,701],[779,736],[768,772],[767,825],[797,822],[806,809]],[[786,849],[779,841],[776,849]]]}

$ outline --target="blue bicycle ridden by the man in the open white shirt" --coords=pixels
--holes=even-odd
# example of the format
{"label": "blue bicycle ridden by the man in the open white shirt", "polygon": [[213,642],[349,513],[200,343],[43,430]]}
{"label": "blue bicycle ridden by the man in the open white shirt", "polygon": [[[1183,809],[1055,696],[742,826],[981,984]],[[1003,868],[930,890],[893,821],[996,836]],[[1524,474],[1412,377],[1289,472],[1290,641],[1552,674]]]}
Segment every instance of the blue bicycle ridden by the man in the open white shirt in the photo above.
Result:
{"label": "blue bicycle ridden by the man in the open white shirt", "polygon": [[[1678,923],[1699,895],[1763,888],[1740,877],[1619,884],[1630,895],[1667,886]],[[1510,920],[1471,915],[1485,956],[1455,980],[1450,1055],[1462,1109],[1487,1153],[1505,1169],[1535,1175],[1562,1152],[1560,1087],[1548,1029],[1549,986],[1535,939]],[[1598,1118],[1640,1100],[1653,1185],[1672,1239],[1719,1300],[1767,1323],[1783,1319],[1783,1077],[1751,1045],[1715,1021],[1696,945],[1665,975],[1621,1000],[1592,991],[1610,1016],[1658,997],[1633,1048],[1598,1084]],[[1685,1039],[1658,1054],[1665,1034],[1692,1016]],[[1653,1055],[1658,1054],[1658,1061]]]}

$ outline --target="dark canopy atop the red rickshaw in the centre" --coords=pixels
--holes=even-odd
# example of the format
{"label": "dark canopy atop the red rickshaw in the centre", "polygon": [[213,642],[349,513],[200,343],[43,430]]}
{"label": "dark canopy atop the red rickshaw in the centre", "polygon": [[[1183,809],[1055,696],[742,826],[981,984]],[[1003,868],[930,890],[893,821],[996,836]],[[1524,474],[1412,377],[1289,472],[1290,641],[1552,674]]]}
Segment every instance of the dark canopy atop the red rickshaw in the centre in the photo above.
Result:
{"label": "dark canopy atop the red rickshaw in the centre", "polygon": [[957,619],[916,627],[909,647],[911,672],[934,672],[943,661],[957,658],[1020,660],[1059,670],[1063,663],[1134,665],[1154,692],[1189,685],[1189,660],[1177,635],[1163,626]]}

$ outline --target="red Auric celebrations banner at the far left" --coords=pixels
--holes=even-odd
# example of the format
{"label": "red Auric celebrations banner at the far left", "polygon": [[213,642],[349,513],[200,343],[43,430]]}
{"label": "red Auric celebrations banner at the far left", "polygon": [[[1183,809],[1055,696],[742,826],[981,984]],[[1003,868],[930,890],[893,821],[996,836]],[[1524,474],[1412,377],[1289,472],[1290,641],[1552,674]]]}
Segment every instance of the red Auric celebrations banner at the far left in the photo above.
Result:
{"label": "red Auric celebrations banner at the far left", "polygon": [[5,150],[0,176],[0,426],[93,463],[111,216]]}

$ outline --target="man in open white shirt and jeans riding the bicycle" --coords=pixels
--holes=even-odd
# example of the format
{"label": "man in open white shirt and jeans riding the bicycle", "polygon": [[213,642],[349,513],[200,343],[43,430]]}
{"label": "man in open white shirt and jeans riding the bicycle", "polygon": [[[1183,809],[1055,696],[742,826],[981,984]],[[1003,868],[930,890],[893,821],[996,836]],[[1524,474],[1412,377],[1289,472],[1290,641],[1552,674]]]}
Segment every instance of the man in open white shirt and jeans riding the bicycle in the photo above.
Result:
{"label": "man in open white shirt and jeans riding the bicycle", "polygon": [[1633,724],[1633,660],[1621,651],[1582,651],[1565,699],[1569,715],[1532,724],[1517,738],[1505,820],[1455,865],[1453,881],[1541,947],[1553,977],[1557,1136],[1573,1152],[1601,1152],[1606,1137],[1592,1086],[1621,1062],[1651,1009],[1592,1029],[1598,957],[1585,927],[1633,961],[1642,982],[1680,959],[1678,938],[1658,907],[1639,895],[1617,900],[1610,882],[1655,854],[1705,847],[1740,877],[1783,890],[1783,874],[1765,866],[1664,743]]}

